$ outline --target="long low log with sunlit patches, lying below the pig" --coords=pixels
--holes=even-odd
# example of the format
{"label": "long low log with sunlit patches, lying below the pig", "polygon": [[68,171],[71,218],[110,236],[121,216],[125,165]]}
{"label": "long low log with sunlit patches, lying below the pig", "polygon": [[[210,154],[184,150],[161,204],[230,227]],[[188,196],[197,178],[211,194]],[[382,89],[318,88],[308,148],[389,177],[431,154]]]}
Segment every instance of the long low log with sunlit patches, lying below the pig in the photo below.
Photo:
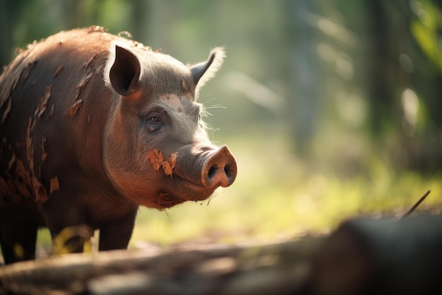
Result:
{"label": "long low log with sunlit patches, lying below the pig", "polygon": [[321,238],[199,250],[72,254],[0,268],[0,294],[293,294]]}

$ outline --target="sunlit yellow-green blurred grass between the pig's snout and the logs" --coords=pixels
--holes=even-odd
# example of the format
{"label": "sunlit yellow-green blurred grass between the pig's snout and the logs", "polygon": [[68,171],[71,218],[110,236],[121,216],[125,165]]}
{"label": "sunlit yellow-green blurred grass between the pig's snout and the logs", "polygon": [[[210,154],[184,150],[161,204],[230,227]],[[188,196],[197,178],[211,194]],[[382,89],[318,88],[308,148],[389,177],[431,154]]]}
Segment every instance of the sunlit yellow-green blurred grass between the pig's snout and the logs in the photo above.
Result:
{"label": "sunlit yellow-green blurred grass between the pig's snout and the logs", "polygon": [[[352,216],[403,214],[427,190],[419,209],[442,205],[441,175],[395,171],[359,137],[335,134],[316,143],[311,160],[289,150],[283,129],[272,130],[220,140],[237,158],[235,183],[204,202],[163,212],[141,208],[130,246],[268,242],[330,231]],[[42,231],[39,241],[49,244],[49,234]]]}

